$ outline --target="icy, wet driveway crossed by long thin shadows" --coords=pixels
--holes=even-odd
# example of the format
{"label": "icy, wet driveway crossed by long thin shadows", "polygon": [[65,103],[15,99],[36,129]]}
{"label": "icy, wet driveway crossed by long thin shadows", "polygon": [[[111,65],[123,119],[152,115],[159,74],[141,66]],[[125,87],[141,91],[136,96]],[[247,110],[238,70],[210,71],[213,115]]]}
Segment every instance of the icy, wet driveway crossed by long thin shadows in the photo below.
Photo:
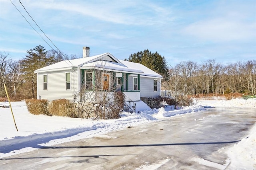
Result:
{"label": "icy, wet driveway crossed by long thin shadows", "polygon": [[255,119],[255,109],[211,108],[2,158],[0,168],[224,169],[225,151],[246,137]]}

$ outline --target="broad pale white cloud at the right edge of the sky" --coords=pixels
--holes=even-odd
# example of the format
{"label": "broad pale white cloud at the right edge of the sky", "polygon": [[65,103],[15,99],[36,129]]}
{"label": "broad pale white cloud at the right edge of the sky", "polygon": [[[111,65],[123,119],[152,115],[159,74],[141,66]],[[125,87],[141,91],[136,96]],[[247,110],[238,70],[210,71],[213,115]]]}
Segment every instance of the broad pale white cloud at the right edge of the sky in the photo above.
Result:
{"label": "broad pale white cloud at the right edge of the sky", "polygon": [[182,33],[208,41],[234,41],[256,38],[256,23],[216,18],[198,21],[182,29]]}

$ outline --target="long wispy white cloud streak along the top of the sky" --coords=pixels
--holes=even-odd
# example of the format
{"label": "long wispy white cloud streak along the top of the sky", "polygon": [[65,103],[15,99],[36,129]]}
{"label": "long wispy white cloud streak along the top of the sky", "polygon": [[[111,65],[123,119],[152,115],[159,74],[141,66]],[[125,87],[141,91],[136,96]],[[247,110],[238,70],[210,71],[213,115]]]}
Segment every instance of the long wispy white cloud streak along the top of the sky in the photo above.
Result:
{"label": "long wispy white cloud streak along the top of the sky", "polygon": [[154,25],[170,21],[168,10],[148,1],[30,1],[31,9],[60,10],[125,25]]}

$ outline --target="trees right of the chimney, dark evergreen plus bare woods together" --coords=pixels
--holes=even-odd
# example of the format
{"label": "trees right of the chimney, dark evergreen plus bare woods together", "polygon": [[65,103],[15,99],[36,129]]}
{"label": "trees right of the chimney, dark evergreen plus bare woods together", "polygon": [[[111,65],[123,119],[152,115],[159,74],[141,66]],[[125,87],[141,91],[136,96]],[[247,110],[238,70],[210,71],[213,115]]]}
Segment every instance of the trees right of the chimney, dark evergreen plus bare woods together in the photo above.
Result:
{"label": "trees right of the chimney, dark evergreen plus bare woods together", "polygon": [[183,61],[168,68],[164,57],[148,49],[131,54],[128,61],[141,63],[163,76],[162,90],[173,95],[256,94],[256,60],[220,64]]}

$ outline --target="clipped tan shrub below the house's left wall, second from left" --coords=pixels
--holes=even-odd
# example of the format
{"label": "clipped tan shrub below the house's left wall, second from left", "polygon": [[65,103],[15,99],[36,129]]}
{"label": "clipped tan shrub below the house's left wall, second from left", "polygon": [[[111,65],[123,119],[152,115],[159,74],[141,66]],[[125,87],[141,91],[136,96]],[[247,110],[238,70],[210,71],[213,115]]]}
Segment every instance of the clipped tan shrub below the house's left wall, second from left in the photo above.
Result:
{"label": "clipped tan shrub below the house's left wall, second from left", "polygon": [[50,115],[78,117],[74,104],[67,99],[53,100],[49,105]]}

